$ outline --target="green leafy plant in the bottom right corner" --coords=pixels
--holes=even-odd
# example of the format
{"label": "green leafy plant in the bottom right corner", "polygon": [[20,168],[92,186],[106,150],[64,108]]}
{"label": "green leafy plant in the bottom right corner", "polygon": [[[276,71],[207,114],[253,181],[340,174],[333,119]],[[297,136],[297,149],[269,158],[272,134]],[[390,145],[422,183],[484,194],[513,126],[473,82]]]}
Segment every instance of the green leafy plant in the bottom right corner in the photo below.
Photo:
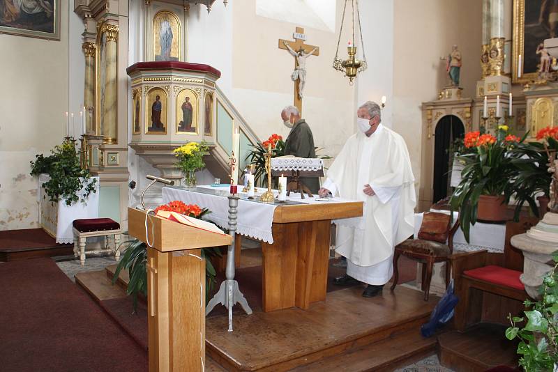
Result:
{"label": "green leafy plant in the bottom right corner", "polygon": [[539,288],[540,300],[525,301],[524,317],[509,317],[509,340],[518,339],[519,364],[525,371],[556,371],[558,363],[558,251],[552,256],[554,268]]}

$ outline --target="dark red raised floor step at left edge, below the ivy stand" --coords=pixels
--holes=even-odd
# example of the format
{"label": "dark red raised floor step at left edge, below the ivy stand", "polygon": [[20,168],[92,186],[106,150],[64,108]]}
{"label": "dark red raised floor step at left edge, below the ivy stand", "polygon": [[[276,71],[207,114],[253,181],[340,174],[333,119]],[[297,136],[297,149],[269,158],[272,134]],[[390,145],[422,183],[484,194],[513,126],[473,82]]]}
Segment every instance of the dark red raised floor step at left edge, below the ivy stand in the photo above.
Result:
{"label": "dark red raised floor step at left edge, below the ivy stand", "polygon": [[56,244],[42,228],[0,231],[0,261],[73,255],[73,244]]}

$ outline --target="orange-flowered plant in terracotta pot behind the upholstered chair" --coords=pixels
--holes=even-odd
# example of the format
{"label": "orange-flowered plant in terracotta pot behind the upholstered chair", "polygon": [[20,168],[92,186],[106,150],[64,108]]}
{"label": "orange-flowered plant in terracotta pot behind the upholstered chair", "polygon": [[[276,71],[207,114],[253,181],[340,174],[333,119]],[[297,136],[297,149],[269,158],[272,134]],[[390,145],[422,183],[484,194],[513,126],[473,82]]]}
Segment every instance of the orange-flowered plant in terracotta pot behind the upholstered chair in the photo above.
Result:
{"label": "orange-flowered plant in terracotta pot behind the upholstered chair", "polygon": [[[460,211],[460,226],[469,241],[469,228],[477,219],[504,221],[506,219],[506,189],[516,174],[509,150],[523,139],[508,134],[508,127],[498,127],[496,136],[469,132],[465,148],[473,149],[458,159],[465,163],[462,180],[455,188],[450,206]],[[508,193],[509,194],[509,193]]]}

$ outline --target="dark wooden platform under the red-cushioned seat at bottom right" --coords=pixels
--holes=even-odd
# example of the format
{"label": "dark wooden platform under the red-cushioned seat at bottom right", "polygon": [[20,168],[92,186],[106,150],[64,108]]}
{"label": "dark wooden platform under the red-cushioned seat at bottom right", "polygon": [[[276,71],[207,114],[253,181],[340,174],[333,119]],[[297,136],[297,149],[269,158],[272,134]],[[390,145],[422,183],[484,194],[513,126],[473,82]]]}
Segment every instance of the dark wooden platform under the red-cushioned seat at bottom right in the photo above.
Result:
{"label": "dark wooden platform under the red-cushioned seat at bottom right", "polygon": [[504,336],[505,325],[481,323],[467,332],[448,332],[438,337],[442,366],[456,372],[482,372],[496,366],[517,367],[517,342]]}

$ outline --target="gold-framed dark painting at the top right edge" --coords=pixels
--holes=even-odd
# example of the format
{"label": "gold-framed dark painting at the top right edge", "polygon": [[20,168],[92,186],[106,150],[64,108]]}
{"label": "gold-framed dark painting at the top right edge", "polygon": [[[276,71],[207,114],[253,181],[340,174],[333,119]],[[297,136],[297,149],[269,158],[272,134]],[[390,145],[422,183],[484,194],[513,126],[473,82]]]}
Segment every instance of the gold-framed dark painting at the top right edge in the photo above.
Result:
{"label": "gold-framed dark painting at the top right edge", "polygon": [[551,58],[543,48],[545,39],[558,36],[558,8],[550,0],[513,0],[514,83],[538,80],[548,71]]}

